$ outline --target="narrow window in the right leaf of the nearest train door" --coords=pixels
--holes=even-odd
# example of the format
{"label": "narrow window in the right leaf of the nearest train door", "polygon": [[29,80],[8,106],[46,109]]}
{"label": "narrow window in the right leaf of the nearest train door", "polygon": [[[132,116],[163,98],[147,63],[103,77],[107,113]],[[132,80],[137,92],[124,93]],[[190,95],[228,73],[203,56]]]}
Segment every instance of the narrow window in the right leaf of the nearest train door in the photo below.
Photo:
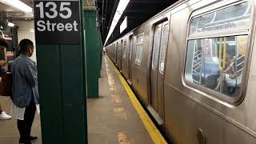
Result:
{"label": "narrow window in the right leaf of the nearest train door", "polygon": [[166,50],[167,50],[167,45],[168,45],[168,35],[169,35],[169,26],[166,25],[163,28],[162,38],[161,38],[162,42],[161,42],[161,48],[160,48],[159,71],[162,74],[165,69]]}

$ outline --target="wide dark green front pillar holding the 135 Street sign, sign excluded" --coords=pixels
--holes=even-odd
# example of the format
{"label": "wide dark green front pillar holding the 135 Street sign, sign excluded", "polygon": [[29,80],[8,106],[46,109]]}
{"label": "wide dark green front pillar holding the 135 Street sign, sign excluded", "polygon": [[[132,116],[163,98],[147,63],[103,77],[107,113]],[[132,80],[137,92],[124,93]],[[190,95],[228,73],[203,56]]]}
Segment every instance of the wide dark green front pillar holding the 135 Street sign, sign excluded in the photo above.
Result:
{"label": "wide dark green front pillar holding the 135 Street sign, sign excluded", "polygon": [[[86,47],[82,0],[79,2],[78,21],[81,24],[81,42],[70,45],[57,43],[36,45],[43,144],[88,143]],[[35,28],[37,28],[36,23]],[[39,38],[36,36],[36,42],[38,41]]]}

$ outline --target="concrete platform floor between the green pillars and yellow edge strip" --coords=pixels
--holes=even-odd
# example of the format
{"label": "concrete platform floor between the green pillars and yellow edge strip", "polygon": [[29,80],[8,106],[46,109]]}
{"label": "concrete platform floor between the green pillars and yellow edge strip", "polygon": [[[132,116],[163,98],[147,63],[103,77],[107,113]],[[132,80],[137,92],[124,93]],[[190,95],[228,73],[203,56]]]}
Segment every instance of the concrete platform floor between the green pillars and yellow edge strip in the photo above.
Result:
{"label": "concrete platform floor between the green pillars and yellow edge strip", "polygon": [[87,101],[89,144],[154,143],[108,57],[102,60],[99,96]]}

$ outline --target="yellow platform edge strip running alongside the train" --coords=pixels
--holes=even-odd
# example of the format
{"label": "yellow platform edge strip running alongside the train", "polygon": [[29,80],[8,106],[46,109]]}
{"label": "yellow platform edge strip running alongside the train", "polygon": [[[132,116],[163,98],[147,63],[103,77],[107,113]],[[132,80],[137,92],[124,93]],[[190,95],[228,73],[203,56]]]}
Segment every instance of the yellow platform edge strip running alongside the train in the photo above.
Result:
{"label": "yellow platform edge strip running alongside the train", "polygon": [[150,119],[150,116],[146,113],[146,111],[143,109],[140,102],[138,102],[138,99],[136,98],[134,92],[130,89],[130,86],[126,82],[125,78],[122,77],[122,74],[118,71],[118,69],[114,66],[113,62],[112,66],[114,67],[115,73],[118,74],[118,78],[122,82],[122,85],[126,89],[126,93],[128,94],[130,101],[133,103],[134,108],[137,110],[138,115],[142,119],[142,122],[144,126],[146,127],[146,130],[150,134],[150,137],[154,141],[154,143],[157,144],[167,144],[165,138],[162,137],[162,134],[159,132],[158,128],[154,125],[154,122]]}

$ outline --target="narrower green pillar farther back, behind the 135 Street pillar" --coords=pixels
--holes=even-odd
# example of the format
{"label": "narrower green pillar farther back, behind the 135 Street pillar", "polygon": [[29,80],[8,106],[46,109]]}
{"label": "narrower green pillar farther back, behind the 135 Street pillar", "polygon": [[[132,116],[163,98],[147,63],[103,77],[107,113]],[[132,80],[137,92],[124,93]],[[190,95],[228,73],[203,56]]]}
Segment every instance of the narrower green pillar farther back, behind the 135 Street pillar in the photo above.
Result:
{"label": "narrower green pillar farther back, behind the 135 Street pillar", "polygon": [[98,54],[98,31],[96,9],[84,10],[86,30],[86,68],[87,97],[98,98],[98,77],[100,75],[100,58]]}

